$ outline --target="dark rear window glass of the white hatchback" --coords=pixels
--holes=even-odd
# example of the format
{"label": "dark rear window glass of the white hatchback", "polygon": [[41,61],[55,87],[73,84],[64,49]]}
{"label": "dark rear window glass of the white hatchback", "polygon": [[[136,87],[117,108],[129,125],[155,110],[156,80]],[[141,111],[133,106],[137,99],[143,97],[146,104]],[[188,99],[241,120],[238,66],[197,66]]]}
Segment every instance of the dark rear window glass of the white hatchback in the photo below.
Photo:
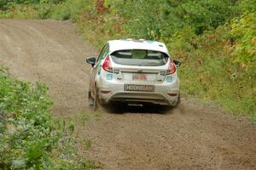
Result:
{"label": "dark rear window glass of the white hatchback", "polygon": [[168,55],[159,51],[130,49],[111,54],[113,62],[119,65],[160,66],[166,65]]}

